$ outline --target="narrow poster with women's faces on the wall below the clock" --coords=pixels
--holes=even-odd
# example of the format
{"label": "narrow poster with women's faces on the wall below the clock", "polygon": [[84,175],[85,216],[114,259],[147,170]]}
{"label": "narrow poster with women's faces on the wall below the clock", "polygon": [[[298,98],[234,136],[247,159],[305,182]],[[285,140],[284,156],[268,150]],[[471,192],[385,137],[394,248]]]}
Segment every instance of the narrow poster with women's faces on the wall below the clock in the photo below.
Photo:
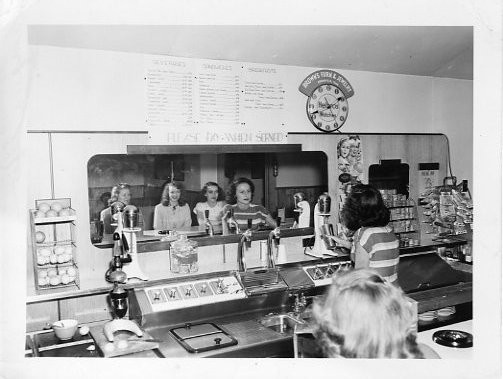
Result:
{"label": "narrow poster with women's faces on the wall below the clock", "polygon": [[[339,214],[349,191],[351,191],[351,186],[362,182],[362,180],[362,140],[358,135],[343,136],[337,142],[337,203],[339,204]],[[340,220],[339,215],[337,218]],[[337,230],[339,235],[343,233],[340,222]]]}

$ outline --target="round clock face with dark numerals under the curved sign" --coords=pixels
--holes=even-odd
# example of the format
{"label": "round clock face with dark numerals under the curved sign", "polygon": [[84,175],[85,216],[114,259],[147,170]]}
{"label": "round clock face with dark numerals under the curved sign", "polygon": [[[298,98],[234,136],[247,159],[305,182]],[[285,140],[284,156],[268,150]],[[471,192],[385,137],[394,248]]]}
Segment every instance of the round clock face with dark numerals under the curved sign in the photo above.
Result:
{"label": "round clock face with dark numerals under the curved sign", "polygon": [[323,84],[317,87],[306,103],[307,116],[311,123],[323,132],[341,128],[348,117],[348,100],[339,87]]}

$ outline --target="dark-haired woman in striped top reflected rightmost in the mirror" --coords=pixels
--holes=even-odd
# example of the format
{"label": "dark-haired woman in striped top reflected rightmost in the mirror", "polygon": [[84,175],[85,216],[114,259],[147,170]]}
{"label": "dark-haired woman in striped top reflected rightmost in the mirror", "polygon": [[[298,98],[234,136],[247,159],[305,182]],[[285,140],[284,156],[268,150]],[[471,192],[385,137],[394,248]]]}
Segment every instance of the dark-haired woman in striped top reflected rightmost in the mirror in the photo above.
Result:
{"label": "dark-haired woman in striped top reflected rightmost in the mirror", "polygon": [[252,203],[255,185],[248,178],[238,178],[231,183],[228,192],[228,204],[224,207],[223,227],[227,227],[231,209],[234,211],[234,219],[239,225],[239,230],[248,228],[248,220],[252,227],[258,228],[261,224],[267,224],[272,228],[277,226],[269,211],[262,205]]}

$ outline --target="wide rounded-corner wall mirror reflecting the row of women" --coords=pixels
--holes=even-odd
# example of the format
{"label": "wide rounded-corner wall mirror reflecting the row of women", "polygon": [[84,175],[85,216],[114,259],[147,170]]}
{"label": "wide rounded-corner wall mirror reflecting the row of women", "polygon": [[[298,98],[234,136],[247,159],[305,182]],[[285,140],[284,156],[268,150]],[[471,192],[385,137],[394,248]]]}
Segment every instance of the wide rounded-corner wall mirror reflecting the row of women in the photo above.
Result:
{"label": "wide rounded-corner wall mirror reflecting the row of women", "polygon": [[[159,204],[165,205],[163,211],[173,214],[181,213],[182,208],[186,210],[187,205],[190,226],[184,210],[183,226],[175,228],[189,228],[194,233],[198,229],[204,231],[206,204],[210,204],[211,212],[225,206],[229,202],[227,191],[231,182],[240,177],[254,184],[252,203],[265,207],[285,227],[293,225],[298,217],[294,211],[296,193],[302,192],[306,200],[314,204],[318,196],[328,190],[327,155],[317,151],[100,154],[89,159],[87,173],[91,241],[98,247],[112,243],[117,228],[114,217],[117,204],[138,208],[141,228],[138,241],[141,242],[162,236],[154,230],[154,214]],[[171,203],[169,189],[163,192],[166,183],[173,181],[180,187],[175,203]],[[218,217],[211,212],[210,218]],[[216,227],[215,234],[218,232]]]}

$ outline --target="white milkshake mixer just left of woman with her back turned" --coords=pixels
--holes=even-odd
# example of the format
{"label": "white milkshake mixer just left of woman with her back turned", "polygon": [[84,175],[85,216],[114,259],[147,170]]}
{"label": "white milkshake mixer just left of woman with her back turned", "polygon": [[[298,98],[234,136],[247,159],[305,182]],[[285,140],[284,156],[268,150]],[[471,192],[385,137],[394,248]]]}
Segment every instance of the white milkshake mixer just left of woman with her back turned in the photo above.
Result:
{"label": "white milkshake mixer just left of woman with her back turned", "polygon": [[322,258],[324,255],[337,256],[335,242],[325,237],[334,235],[333,225],[329,223],[331,199],[327,192],[322,193],[314,206],[314,246],[306,254]]}

